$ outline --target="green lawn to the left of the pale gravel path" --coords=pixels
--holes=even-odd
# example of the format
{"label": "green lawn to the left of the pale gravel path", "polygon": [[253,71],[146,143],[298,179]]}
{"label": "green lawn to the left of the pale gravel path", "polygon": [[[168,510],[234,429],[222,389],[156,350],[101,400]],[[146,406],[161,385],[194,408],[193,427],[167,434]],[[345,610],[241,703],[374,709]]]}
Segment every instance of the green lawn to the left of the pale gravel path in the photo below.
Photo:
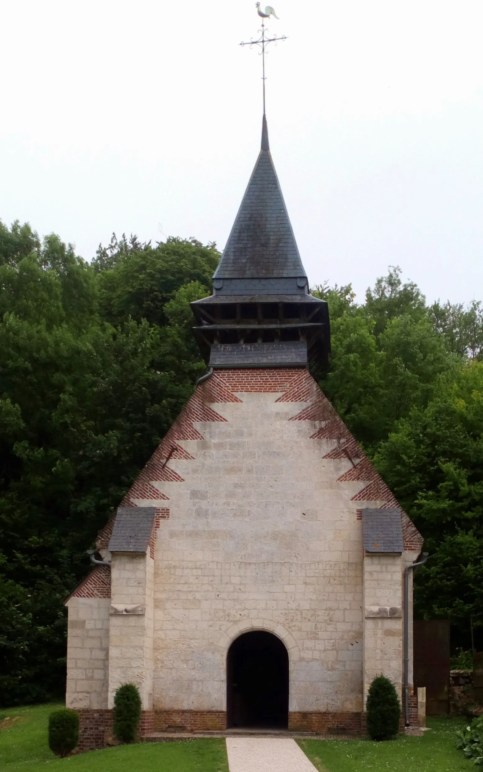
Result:
{"label": "green lawn to the left of the pale gravel path", "polygon": [[56,707],[38,705],[0,713],[2,772],[228,772],[225,740],[121,745],[58,759],[47,744],[49,713]]}

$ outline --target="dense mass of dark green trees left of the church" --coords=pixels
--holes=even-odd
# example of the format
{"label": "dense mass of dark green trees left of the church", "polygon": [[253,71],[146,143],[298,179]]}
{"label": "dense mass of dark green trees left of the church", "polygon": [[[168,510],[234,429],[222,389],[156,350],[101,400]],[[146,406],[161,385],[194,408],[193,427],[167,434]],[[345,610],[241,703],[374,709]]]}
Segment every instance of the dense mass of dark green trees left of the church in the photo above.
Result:
{"label": "dense mass of dark green trees left of the church", "polygon": [[[187,330],[189,302],[207,292],[184,284],[194,268],[209,276],[218,253],[178,246],[166,261],[164,248],[134,240],[99,270],[54,235],[41,242],[28,225],[0,228],[2,704],[62,692],[62,598],[89,570],[86,548],[204,371]],[[115,327],[102,316],[104,277],[130,259],[139,266],[143,249],[158,274],[171,266],[163,301],[149,295],[147,272],[145,307]],[[164,327],[144,318],[158,302]]]}

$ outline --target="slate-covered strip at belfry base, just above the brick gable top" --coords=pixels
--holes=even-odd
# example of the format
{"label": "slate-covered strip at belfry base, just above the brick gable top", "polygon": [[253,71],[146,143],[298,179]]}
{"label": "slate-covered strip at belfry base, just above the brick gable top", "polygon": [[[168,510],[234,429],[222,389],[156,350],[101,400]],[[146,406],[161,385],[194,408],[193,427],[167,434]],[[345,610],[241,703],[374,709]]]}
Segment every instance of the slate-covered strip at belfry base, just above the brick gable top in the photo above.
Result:
{"label": "slate-covered strip at belfry base, just above the brick gable top", "polygon": [[307,367],[306,340],[211,346],[210,367]]}

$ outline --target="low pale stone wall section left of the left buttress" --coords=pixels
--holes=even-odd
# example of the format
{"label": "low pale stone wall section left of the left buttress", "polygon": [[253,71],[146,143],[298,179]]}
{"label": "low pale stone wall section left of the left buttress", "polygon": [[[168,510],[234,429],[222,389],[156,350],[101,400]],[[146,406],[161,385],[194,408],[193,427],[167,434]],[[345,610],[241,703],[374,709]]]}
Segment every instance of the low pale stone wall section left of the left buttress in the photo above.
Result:
{"label": "low pale stone wall section left of the left buttress", "polygon": [[106,708],[109,598],[70,598],[67,631],[68,708]]}

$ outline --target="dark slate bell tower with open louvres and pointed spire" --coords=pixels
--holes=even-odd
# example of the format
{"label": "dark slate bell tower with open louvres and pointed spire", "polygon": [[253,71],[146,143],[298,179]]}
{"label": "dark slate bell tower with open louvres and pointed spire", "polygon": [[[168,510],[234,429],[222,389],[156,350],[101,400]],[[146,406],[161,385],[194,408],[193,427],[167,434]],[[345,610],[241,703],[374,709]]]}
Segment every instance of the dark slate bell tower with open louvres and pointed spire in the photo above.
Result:
{"label": "dark slate bell tower with open louvres and pointed spire", "polygon": [[309,293],[306,271],[269,148],[262,144],[218,269],[213,294],[191,303],[208,367],[327,364],[329,310]]}

